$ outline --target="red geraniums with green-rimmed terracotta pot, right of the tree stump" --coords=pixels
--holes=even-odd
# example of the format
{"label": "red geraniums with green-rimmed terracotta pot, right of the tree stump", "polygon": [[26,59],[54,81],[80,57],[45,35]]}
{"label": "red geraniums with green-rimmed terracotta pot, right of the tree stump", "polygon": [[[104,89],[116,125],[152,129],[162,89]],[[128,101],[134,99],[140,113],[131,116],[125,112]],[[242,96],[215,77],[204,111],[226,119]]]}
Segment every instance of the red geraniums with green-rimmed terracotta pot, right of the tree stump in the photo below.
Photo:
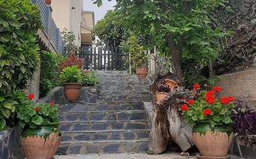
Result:
{"label": "red geraniums with green-rimmed terracotta pot, right of the tree stump", "polygon": [[193,126],[193,141],[201,153],[198,158],[226,158],[232,142],[234,97],[217,99],[220,90],[221,87],[201,90],[199,84],[194,84],[194,99],[183,101],[180,107],[183,119]]}

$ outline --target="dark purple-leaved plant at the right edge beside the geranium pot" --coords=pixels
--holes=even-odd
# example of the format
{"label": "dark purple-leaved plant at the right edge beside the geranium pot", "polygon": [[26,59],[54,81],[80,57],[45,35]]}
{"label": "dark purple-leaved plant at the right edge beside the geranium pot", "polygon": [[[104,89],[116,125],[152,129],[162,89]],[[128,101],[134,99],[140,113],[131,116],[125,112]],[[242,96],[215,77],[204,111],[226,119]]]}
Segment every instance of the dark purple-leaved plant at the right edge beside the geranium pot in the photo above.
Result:
{"label": "dark purple-leaved plant at the right edge beside the geranium pot", "polygon": [[239,146],[240,157],[254,158],[256,156],[256,112],[241,101],[235,103],[231,114],[232,129]]}

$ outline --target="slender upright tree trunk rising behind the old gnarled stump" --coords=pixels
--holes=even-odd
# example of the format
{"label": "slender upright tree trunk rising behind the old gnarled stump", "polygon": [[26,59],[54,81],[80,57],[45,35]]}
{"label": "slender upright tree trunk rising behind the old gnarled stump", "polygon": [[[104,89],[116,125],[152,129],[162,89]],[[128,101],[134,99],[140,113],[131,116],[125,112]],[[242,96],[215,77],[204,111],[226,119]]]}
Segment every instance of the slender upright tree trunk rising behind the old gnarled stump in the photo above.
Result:
{"label": "slender upright tree trunk rising behind the old gnarled stump", "polygon": [[176,50],[175,44],[173,42],[173,35],[171,35],[171,33],[168,34],[167,41],[171,51],[171,59],[173,61],[175,74],[178,76],[178,78],[182,79],[180,56]]}

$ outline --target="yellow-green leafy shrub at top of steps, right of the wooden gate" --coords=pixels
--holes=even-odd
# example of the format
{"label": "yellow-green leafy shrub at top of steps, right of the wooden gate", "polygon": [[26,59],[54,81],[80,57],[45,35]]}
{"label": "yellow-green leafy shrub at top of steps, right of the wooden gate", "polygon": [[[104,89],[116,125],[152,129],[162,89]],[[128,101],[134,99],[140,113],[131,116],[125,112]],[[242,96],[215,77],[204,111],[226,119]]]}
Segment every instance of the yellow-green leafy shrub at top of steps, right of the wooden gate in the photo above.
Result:
{"label": "yellow-green leafy shrub at top of steps, right of the wooden gate", "polygon": [[132,72],[135,72],[136,67],[147,67],[149,56],[143,47],[140,46],[139,40],[135,35],[131,35],[127,41],[122,41],[121,49],[124,54],[123,61],[126,68],[129,69],[129,54]]}

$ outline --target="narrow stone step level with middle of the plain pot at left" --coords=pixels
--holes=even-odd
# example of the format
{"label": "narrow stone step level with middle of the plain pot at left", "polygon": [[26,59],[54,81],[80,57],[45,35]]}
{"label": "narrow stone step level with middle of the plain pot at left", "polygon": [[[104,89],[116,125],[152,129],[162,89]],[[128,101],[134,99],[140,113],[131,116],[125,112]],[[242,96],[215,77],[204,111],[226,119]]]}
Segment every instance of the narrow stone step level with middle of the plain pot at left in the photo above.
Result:
{"label": "narrow stone step level with middle of the plain pot at left", "polygon": [[101,90],[99,95],[149,95],[149,90]]}

